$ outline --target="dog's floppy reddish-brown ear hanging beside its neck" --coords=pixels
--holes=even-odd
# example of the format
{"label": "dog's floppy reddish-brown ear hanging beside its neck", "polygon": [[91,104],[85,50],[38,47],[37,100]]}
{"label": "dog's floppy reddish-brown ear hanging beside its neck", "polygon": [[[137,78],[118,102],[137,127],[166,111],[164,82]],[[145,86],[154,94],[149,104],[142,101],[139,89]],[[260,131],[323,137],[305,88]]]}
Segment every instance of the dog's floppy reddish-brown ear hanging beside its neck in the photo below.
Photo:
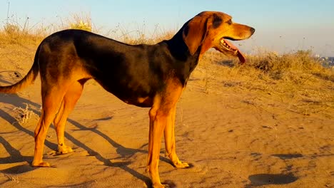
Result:
{"label": "dog's floppy reddish-brown ear hanging beside its neck", "polygon": [[206,37],[208,17],[197,15],[183,26],[183,41],[188,46],[191,56]]}

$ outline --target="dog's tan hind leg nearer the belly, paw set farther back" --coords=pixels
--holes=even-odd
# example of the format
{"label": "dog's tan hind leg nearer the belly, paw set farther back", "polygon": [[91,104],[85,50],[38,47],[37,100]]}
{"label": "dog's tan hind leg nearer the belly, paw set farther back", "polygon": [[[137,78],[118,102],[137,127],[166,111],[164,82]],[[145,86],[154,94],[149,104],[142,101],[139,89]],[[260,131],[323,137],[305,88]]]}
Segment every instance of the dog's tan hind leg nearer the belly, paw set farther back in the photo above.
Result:
{"label": "dog's tan hind leg nearer the belly, paw set farther back", "polygon": [[61,102],[61,108],[59,109],[56,117],[54,118],[54,126],[56,127],[56,133],[58,138],[58,152],[60,154],[66,154],[68,152],[72,152],[72,148],[65,145],[64,142],[64,132],[67,117],[69,117],[69,113],[73,110],[76,102],[79,100],[82,90],[83,83],[76,81],[72,85],[69,86],[69,90],[66,91],[64,95],[63,101]]}

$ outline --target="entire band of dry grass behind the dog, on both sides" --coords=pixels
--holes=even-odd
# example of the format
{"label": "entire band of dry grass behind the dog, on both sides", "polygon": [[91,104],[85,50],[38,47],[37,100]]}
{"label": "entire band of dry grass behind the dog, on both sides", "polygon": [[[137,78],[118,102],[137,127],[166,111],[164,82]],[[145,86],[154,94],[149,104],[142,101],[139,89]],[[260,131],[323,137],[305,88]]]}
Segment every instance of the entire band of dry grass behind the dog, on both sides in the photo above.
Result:
{"label": "entire band of dry grass behind the dog, on both sides", "polygon": [[[0,31],[0,68],[1,71],[8,70],[6,64],[15,63],[16,70],[1,72],[0,79],[8,78],[4,74],[9,73],[11,79],[6,80],[7,82],[19,80],[27,71],[24,68],[27,66],[22,66],[21,63],[30,65],[36,46],[41,40],[49,33],[64,28],[92,31],[90,16],[74,15],[66,23],[61,21],[58,26],[46,28],[29,29],[14,21],[6,23]],[[158,26],[156,30],[158,31]],[[116,33],[121,35],[115,36]],[[109,32],[109,35],[119,41],[136,44],[157,43],[171,38],[174,33],[154,31],[153,35],[147,36],[140,29],[129,32],[118,26]],[[333,116],[334,68],[325,68],[325,62],[315,58],[311,51],[283,55],[263,51],[258,55],[248,56],[247,59],[245,65],[239,66],[236,59],[226,58],[216,51],[208,51],[198,65],[198,71],[205,73],[205,76],[195,78],[195,73],[192,79],[203,80],[204,92],[215,92],[216,87],[225,87],[236,92],[256,92],[259,98],[263,96],[284,103],[285,108],[296,113],[310,115],[327,112],[326,116]],[[217,85],[218,83],[221,85]]]}

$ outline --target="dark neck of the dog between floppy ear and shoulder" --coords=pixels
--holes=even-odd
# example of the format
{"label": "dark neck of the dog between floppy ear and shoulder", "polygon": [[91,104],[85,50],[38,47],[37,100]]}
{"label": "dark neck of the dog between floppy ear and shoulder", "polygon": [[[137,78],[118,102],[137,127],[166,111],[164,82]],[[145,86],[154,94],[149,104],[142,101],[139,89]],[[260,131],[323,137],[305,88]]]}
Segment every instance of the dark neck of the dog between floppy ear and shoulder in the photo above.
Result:
{"label": "dark neck of the dog between floppy ear and shoulder", "polygon": [[[167,44],[168,51],[170,51],[174,62],[177,63],[176,66],[179,68],[178,77],[180,77],[183,85],[186,85],[189,76],[198,64],[201,46],[198,47],[196,53],[191,55],[188,46],[183,41],[182,32],[183,28],[173,38],[163,41],[163,43]],[[180,67],[182,68],[180,69]]]}

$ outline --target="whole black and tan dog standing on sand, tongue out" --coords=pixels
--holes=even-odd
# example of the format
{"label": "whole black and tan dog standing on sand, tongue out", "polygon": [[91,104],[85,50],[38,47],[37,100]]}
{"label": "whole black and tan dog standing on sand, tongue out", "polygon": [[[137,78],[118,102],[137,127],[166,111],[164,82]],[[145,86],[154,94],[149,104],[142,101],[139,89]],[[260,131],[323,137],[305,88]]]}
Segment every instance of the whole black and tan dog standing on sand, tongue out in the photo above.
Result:
{"label": "whole black and tan dog standing on sand, tongue out", "polygon": [[16,93],[41,75],[42,110],[32,162],[35,167],[50,166],[42,155],[51,122],[56,127],[59,152],[72,151],[64,143],[64,127],[87,80],[96,80],[125,103],[151,108],[147,171],[153,187],[164,187],[158,175],[163,134],[166,156],[175,167],[188,167],[176,155],[174,121],[176,103],[191,72],[209,48],[238,56],[244,63],[241,51],[226,39],[243,40],[254,31],[215,11],[201,12],[173,38],[155,45],[128,45],[81,30],[59,31],[41,42],[29,73],[14,85],[1,86],[0,92]]}

